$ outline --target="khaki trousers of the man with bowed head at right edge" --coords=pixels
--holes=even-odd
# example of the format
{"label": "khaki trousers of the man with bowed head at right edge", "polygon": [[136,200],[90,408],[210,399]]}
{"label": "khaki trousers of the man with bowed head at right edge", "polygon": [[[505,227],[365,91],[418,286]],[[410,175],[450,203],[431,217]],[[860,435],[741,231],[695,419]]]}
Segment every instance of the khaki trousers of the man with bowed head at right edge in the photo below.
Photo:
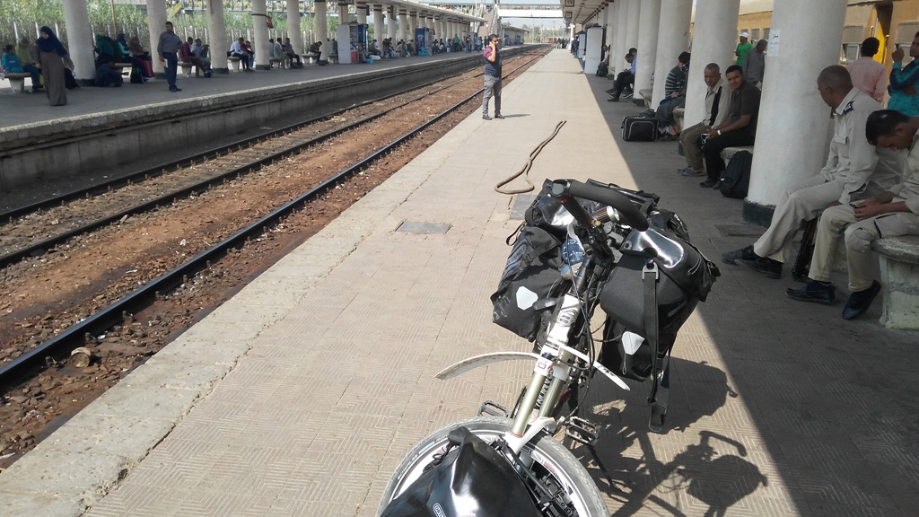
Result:
{"label": "khaki trousers of the man with bowed head at right edge", "polygon": [[845,261],[849,271],[849,291],[855,293],[871,287],[871,243],[882,236],[919,234],[919,216],[914,213],[884,213],[856,221],[855,209],[837,205],[823,211],[817,225],[811,259],[811,280],[830,281],[833,256],[839,239],[845,238]]}

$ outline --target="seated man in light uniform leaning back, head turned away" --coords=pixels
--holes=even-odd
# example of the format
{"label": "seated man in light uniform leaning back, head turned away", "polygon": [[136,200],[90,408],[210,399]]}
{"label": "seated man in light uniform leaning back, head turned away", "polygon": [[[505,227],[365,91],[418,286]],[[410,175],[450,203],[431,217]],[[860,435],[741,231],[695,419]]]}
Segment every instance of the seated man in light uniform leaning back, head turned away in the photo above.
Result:
{"label": "seated man in light uniform leaning back, head turned away", "polygon": [[725,264],[740,262],[768,278],[780,278],[802,219],[811,220],[830,205],[877,195],[899,181],[902,155],[864,138],[868,115],[880,109],[878,102],[852,86],[849,73],[839,65],[823,69],[817,89],[835,112],[826,165],[816,176],[791,187],[778,201],[766,233],[753,246],[722,255]]}

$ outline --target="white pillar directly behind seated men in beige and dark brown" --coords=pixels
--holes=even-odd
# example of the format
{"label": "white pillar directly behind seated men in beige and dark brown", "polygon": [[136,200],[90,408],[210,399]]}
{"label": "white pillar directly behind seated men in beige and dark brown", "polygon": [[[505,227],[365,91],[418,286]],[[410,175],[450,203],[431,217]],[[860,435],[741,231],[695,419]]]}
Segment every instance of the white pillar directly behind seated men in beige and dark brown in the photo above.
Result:
{"label": "white pillar directly behind seated men in beige and dark brown", "polygon": [[721,75],[731,65],[737,46],[737,12],[741,0],[706,0],[696,4],[696,28],[693,30],[692,60],[686,87],[686,125],[705,118],[705,93],[702,80],[705,66],[718,63]]}

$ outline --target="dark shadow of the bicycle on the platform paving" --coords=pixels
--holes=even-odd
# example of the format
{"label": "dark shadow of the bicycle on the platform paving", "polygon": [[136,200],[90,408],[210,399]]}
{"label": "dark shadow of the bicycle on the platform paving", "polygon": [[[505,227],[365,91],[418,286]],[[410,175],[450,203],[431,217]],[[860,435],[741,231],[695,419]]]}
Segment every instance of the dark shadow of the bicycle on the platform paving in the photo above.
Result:
{"label": "dark shadow of the bicycle on the platform paving", "polygon": [[[630,382],[627,393],[611,393],[607,385],[595,391],[599,386],[594,386],[582,404],[581,415],[603,428],[595,450],[607,475],[586,447],[570,440],[568,445],[581,456],[597,487],[620,505],[612,513],[614,517],[634,515],[650,506],[658,513],[684,516],[687,500],[694,514],[698,514],[698,504],[708,506],[706,516],[722,516],[760,485],[768,486],[768,478],[759,467],[743,459],[747,455],[743,443],[714,431],[688,431],[698,419],[724,406],[728,396],[737,396],[727,384],[727,376],[705,362],[678,358],[671,359],[671,368],[678,378],[671,378],[671,404],[664,429],[666,433],[685,434],[686,440],[680,440],[679,435],[670,440],[666,436],[654,438],[660,435],[648,430],[650,381]],[[681,380],[687,385],[687,400],[675,396],[681,392]],[[604,403],[603,396],[618,396],[618,400],[609,402],[607,398]],[[686,403],[691,410],[676,406]],[[675,443],[685,443],[694,434],[698,434],[698,443],[673,454]]]}

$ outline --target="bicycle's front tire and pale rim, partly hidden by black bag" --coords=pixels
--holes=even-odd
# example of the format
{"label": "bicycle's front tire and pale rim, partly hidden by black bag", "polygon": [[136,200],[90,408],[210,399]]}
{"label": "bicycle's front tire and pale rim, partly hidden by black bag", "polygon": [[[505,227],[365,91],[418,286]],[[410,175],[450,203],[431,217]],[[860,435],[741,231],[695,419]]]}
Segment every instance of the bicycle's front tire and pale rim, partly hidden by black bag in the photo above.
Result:
{"label": "bicycle's front tire and pale rim, partly hidden by black bag", "polygon": [[[428,434],[405,456],[383,489],[377,515],[380,515],[391,500],[408,488],[419,477],[425,465],[431,463],[433,455],[444,450],[449,431],[465,427],[485,442],[493,442],[504,435],[513,420],[502,417],[475,417],[444,426]],[[548,434],[540,434],[528,442],[520,452],[521,459],[533,459],[533,470],[543,480],[549,480],[562,487],[568,494],[577,517],[608,517],[609,510],[596,483],[587,473],[584,465]]]}

